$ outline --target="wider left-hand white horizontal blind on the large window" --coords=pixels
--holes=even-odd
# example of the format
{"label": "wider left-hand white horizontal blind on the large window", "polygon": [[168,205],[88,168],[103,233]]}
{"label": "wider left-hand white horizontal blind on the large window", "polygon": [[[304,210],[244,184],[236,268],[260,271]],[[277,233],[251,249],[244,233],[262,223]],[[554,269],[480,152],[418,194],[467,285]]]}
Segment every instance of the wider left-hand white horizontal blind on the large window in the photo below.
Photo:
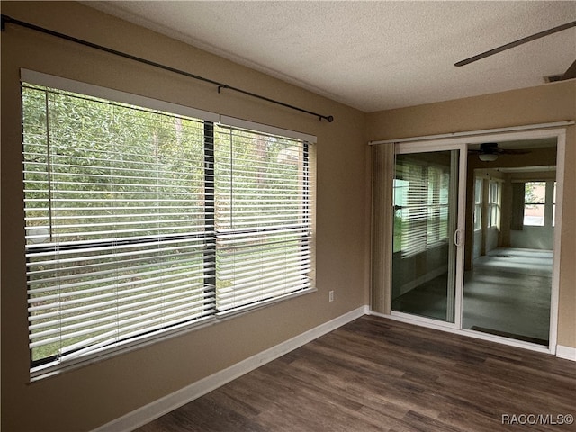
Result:
{"label": "wider left-hand white horizontal blind on the large window", "polygon": [[32,365],[214,313],[203,146],[202,121],[23,84]]}

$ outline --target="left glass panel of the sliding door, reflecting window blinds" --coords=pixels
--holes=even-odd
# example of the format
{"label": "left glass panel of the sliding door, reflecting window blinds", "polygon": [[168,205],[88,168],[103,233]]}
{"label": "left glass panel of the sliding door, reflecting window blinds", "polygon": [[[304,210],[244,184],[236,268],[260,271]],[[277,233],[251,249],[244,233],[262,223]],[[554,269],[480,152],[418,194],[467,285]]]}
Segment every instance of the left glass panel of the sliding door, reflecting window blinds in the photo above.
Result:
{"label": "left glass panel of the sliding door, reflecting window blinds", "polygon": [[459,150],[398,154],[392,311],[455,321]]}

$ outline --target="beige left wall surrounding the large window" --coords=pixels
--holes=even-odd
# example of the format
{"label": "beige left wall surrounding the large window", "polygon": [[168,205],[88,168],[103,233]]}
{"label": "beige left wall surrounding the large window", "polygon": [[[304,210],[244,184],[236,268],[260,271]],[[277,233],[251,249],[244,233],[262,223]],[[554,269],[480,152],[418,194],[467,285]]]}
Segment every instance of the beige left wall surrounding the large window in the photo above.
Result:
{"label": "beige left wall surrounding the large window", "polygon": [[[319,121],[214,85],[8,24],[2,33],[2,430],[96,428],[368,303],[365,113],[76,3],[2,14],[279,99]],[[300,130],[318,137],[318,292],[29,383],[19,68]],[[329,303],[329,290],[335,302]]]}

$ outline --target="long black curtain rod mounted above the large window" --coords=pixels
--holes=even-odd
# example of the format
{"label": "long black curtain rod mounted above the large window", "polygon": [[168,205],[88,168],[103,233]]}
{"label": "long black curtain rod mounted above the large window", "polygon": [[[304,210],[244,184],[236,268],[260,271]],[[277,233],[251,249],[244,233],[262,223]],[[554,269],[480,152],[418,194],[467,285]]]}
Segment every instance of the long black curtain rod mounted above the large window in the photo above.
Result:
{"label": "long black curtain rod mounted above the large window", "polygon": [[241,94],[246,94],[247,96],[255,97],[255,98],[257,98],[257,99],[260,99],[260,100],[263,100],[263,101],[266,101],[266,102],[269,102],[269,103],[275,103],[275,104],[277,104],[277,105],[284,106],[285,108],[290,108],[291,110],[295,110],[295,111],[300,111],[300,112],[305,112],[305,113],[307,113],[307,114],[311,114],[311,115],[313,115],[313,116],[315,116],[315,117],[318,117],[318,118],[320,119],[320,121],[322,121],[322,119],[328,121],[329,123],[331,123],[332,121],[334,121],[334,117],[331,116],[331,115],[322,115],[322,114],[319,114],[319,113],[317,113],[317,112],[311,112],[311,111],[308,111],[308,110],[304,110],[304,109],[299,108],[299,107],[297,107],[297,106],[293,106],[293,105],[290,105],[290,104],[288,104],[288,103],[276,101],[275,99],[271,99],[271,98],[269,98],[269,97],[262,96],[262,95],[260,95],[260,94],[254,94],[254,93],[251,93],[251,92],[247,92],[246,90],[242,90],[242,89],[240,89],[240,88],[238,88],[238,87],[234,87],[234,86],[232,86],[232,85],[220,83],[220,82],[218,82],[218,81],[214,81],[214,80],[212,80],[212,79],[205,78],[205,77],[203,77],[203,76],[193,75],[193,74],[191,74],[191,73],[189,73],[189,72],[186,72],[186,71],[184,71],[184,70],[176,69],[175,67],[169,67],[169,66],[166,66],[166,65],[162,65],[162,64],[160,64],[160,63],[157,63],[157,62],[155,62],[155,61],[148,60],[148,59],[146,59],[146,58],[139,58],[139,57],[136,57],[136,56],[132,56],[131,54],[127,54],[127,53],[125,53],[125,52],[118,51],[118,50],[116,50],[116,49],[111,49],[111,48],[108,48],[108,47],[103,47],[102,45],[97,45],[97,44],[92,43],[92,42],[89,42],[89,41],[87,41],[87,40],[82,40],[82,39],[75,38],[75,37],[73,37],[73,36],[68,36],[67,34],[59,33],[58,31],[52,31],[52,30],[49,30],[49,29],[40,27],[40,26],[35,25],[35,24],[26,23],[26,22],[23,22],[23,21],[20,21],[20,20],[16,20],[16,19],[14,19],[14,18],[12,18],[12,17],[10,17],[10,16],[8,16],[8,15],[2,14],[2,31],[5,31],[5,24],[6,24],[6,23],[11,23],[11,24],[14,24],[14,25],[19,25],[19,26],[21,26],[21,27],[24,27],[24,28],[26,28],[26,29],[30,29],[30,30],[33,30],[33,31],[40,31],[41,33],[49,34],[50,36],[55,36],[55,37],[57,37],[57,38],[59,38],[59,39],[63,39],[63,40],[68,40],[68,41],[71,41],[71,42],[75,42],[75,43],[78,43],[78,44],[80,44],[80,45],[84,45],[85,47],[94,48],[94,49],[99,49],[99,50],[101,50],[101,51],[108,52],[108,53],[114,54],[114,55],[116,55],[116,56],[120,56],[120,57],[123,57],[123,58],[129,58],[130,60],[138,61],[139,63],[143,63],[143,64],[148,65],[148,66],[158,67],[158,68],[160,68],[160,69],[164,69],[164,70],[167,70],[167,71],[169,71],[169,72],[173,72],[173,73],[178,74],[178,75],[187,76],[187,77],[189,77],[189,78],[197,79],[197,80],[203,81],[203,82],[205,82],[205,83],[209,83],[209,84],[212,84],[212,85],[217,85],[217,86],[218,86],[218,93],[219,93],[219,94],[221,93],[221,90],[222,90],[222,89],[227,89],[227,90],[231,90],[231,91],[233,91],[233,92],[237,92],[237,93],[241,93]]}

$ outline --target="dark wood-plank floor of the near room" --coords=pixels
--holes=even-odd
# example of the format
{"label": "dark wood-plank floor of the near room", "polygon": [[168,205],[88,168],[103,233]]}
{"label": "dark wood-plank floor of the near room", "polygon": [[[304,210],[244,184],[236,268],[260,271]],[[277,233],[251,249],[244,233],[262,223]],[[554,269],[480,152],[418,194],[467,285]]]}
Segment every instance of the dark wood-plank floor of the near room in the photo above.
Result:
{"label": "dark wood-plank floor of the near room", "polygon": [[365,316],[137,430],[573,431],[575,401],[574,362]]}

